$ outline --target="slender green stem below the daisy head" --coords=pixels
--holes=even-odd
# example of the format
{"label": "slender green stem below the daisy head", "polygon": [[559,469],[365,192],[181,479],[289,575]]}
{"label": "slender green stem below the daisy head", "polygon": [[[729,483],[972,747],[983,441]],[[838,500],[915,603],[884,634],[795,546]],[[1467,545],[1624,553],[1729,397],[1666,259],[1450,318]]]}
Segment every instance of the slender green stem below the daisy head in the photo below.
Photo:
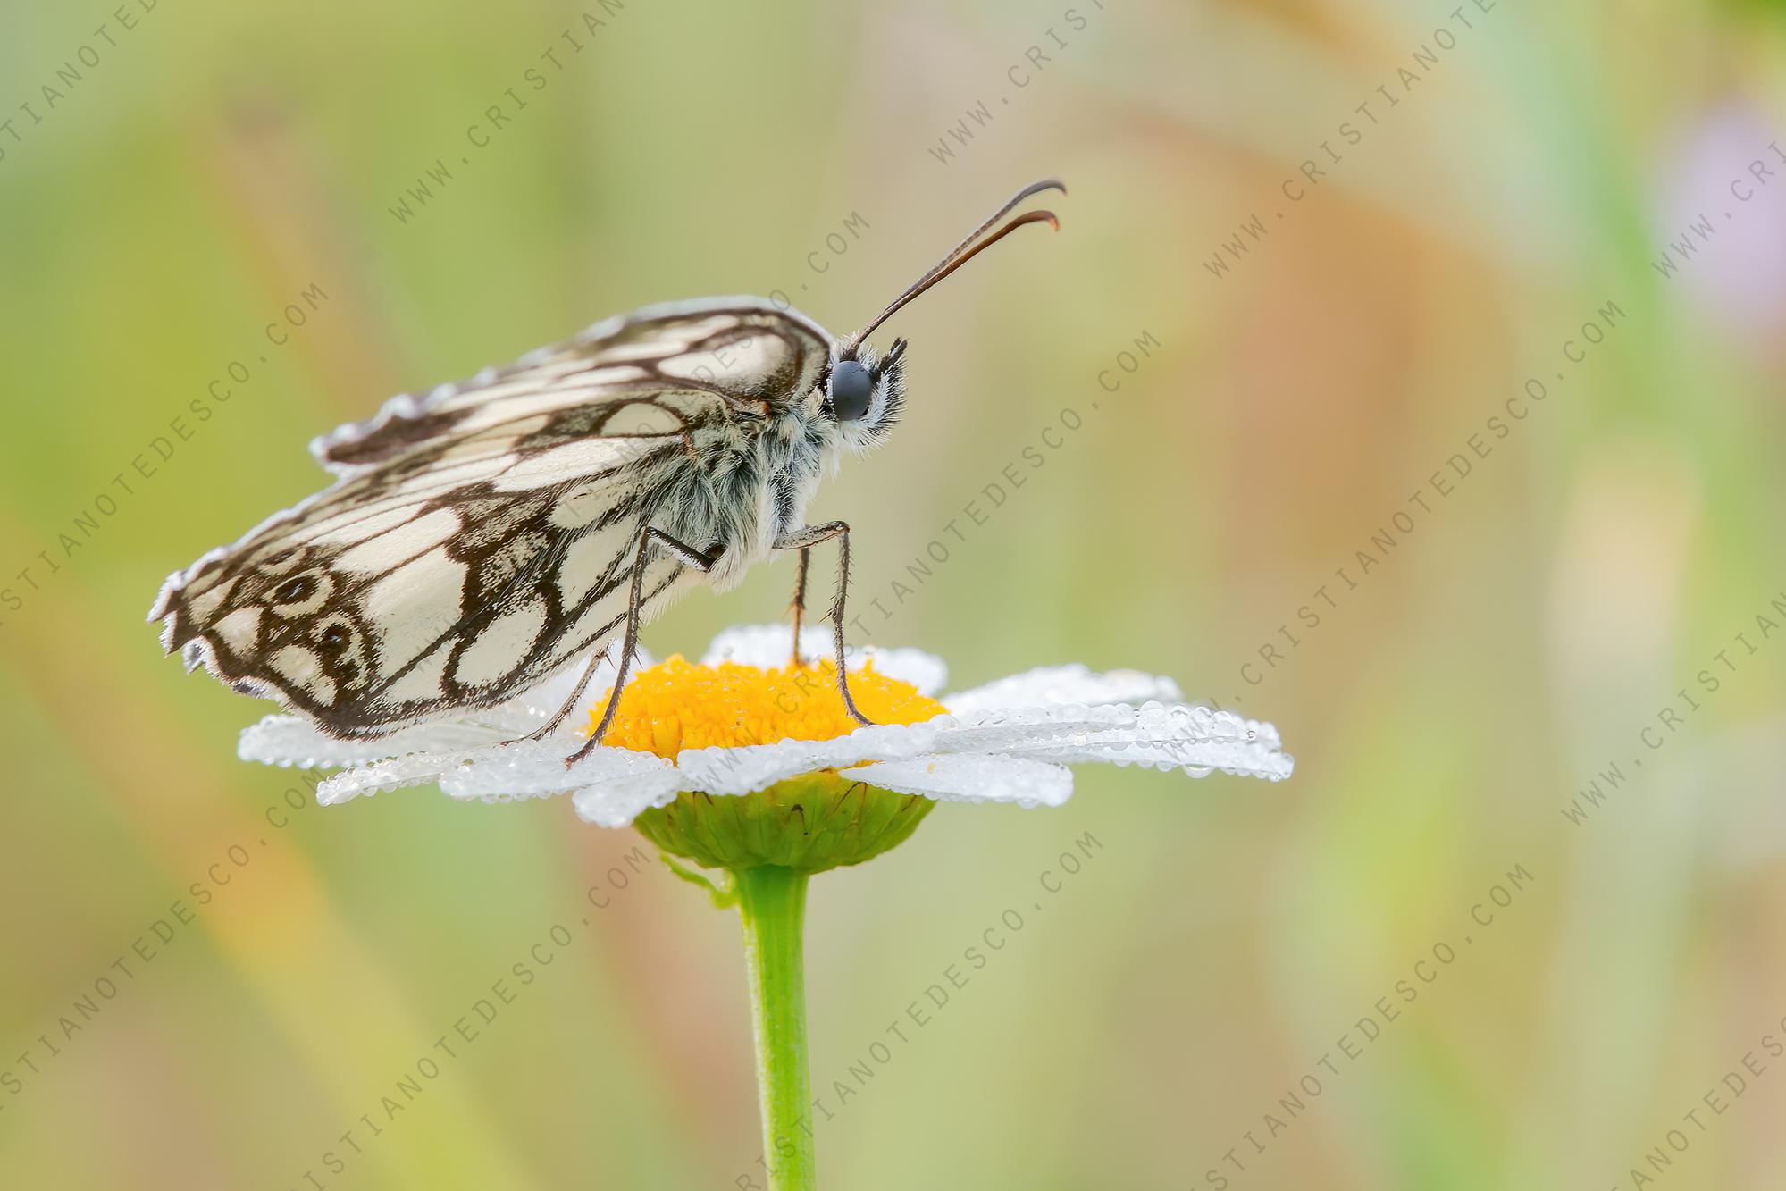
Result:
{"label": "slender green stem below the daisy head", "polygon": [[741,868],[738,916],[750,964],[755,1011],[757,1091],[763,1100],[763,1161],[770,1191],[813,1191],[813,1132],[805,1068],[805,923],[807,873],[763,864]]}

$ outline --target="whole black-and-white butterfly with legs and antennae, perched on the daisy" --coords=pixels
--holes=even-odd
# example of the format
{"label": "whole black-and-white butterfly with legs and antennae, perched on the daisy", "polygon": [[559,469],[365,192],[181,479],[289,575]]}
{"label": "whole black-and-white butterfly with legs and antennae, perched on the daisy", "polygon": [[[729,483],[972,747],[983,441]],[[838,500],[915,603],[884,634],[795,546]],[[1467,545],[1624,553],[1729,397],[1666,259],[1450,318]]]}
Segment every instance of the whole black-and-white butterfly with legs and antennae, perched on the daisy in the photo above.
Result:
{"label": "whole black-and-white butterfly with legs and antennae, perched on the daisy", "polygon": [[[795,657],[813,546],[838,543],[832,623],[843,666],[850,527],[805,507],[843,450],[877,446],[904,404],[906,341],[868,336],[1018,227],[991,230],[1025,186],[861,330],[838,339],[766,298],[652,305],[507,368],[311,443],[336,480],[168,577],[148,620],[188,671],[204,666],[338,739],[373,739],[529,691],[579,661],[572,696],[618,648],[614,696],[641,623],[695,582],[723,591],[798,552]],[[580,755],[580,754],[579,754]]]}

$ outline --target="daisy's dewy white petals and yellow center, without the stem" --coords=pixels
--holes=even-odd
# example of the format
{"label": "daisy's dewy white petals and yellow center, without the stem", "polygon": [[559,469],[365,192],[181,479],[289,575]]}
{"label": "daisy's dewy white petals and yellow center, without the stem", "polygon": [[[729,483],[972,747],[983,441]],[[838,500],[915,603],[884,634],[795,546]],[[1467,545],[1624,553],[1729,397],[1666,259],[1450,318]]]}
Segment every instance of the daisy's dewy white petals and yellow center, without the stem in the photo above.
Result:
{"label": "daisy's dewy white petals and yellow center, without the stem", "polygon": [[[875,721],[861,727],[836,695],[822,645],[802,652],[800,668],[788,662],[786,625],[729,629],[698,664],[680,657],[652,664],[641,655],[607,745],[568,770],[564,759],[586,743],[605,700],[588,720],[566,720],[543,739],[516,737],[564,702],[580,666],[497,709],[377,741],[338,741],[296,716],[268,716],[243,732],[239,752],[243,761],[345,770],[318,786],[323,804],[432,784],[484,802],[572,795],[589,823],[636,823],[661,846],[668,845],[654,829],[679,820],[677,811],[686,816],[693,805],[718,805],[716,798],[773,798],[795,780],[866,784],[927,802],[1057,807],[1073,793],[1070,764],[1145,764],[1191,777],[1222,770],[1272,780],[1291,771],[1270,723],[1186,705],[1175,682],[1136,670],[1045,666],[938,698],[948,677],[939,657],[852,650],[850,691]],[[593,689],[607,686],[602,679]],[[755,862],[822,871],[859,859],[868,857],[838,859],[820,848]],[[714,868],[747,862],[732,855]]]}

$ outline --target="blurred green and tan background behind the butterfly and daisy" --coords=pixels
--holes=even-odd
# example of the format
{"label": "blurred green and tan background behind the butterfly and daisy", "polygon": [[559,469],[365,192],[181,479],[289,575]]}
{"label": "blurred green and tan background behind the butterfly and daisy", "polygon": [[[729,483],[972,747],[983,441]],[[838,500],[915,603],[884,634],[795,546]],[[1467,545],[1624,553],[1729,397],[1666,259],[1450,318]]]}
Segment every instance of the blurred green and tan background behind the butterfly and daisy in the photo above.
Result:
{"label": "blurred green and tan background behind the butterfly and daisy", "polygon": [[0,16],[0,1182],[752,1186],[730,916],[564,802],[307,804],[143,614],[389,393],[843,332],[1057,173],[813,514],[957,686],[1172,673],[1298,771],[820,879],[825,1184],[1786,1186],[1781,5],[111,5]]}

